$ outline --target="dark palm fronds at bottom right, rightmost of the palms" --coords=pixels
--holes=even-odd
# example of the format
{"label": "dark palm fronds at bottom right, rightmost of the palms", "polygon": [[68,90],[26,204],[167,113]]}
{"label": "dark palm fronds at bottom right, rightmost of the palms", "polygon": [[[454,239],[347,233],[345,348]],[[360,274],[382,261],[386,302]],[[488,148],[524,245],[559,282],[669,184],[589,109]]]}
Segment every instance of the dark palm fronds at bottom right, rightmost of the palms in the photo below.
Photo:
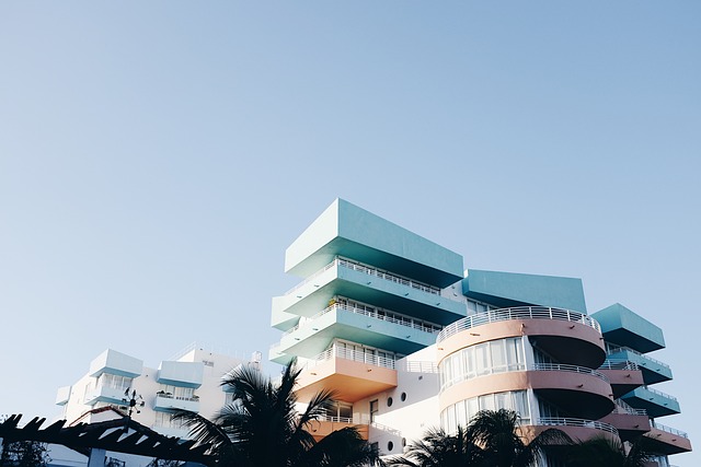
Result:
{"label": "dark palm fronds at bottom right, rightmost of the palms", "polygon": [[620,440],[597,436],[575,443],[567,455],[567,466],[644,467],[652,457],[647,436],[639,436],[628,452]]}

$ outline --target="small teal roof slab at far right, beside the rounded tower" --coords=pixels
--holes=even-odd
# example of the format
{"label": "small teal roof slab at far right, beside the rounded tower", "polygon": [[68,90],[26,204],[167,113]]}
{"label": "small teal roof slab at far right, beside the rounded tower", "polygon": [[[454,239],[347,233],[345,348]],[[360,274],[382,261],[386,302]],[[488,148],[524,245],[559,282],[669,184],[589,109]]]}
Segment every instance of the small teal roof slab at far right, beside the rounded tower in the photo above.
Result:
{"label": "small teal roof slab at far right, beside the rounded tower", "polygon": [[620,303],[607,306],[591,317],[601,325],[601,334],[608,342],[642,353],[665,348],[662,329]]}

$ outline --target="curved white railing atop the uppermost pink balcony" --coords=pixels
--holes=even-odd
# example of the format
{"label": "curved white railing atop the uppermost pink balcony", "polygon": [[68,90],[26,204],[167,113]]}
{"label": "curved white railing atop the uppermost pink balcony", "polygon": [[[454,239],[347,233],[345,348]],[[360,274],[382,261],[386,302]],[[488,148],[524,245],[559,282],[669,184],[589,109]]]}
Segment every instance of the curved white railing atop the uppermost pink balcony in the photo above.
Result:
{"label": "curved white railing atop the uppermost pink balcony", "polygon": [[446,326],[438,334],[437,341],[440,342],[441,340],[455,336],[458,332],[472,329],[476,326],[512,319],[561,319],[579,323],[585,326],[589,326],[599,332],[601,331],[601,326],[599,326],[597,320],[584,313],[547,306],[517,306],[513,308],[492,310],[459,319],[453,324]]}

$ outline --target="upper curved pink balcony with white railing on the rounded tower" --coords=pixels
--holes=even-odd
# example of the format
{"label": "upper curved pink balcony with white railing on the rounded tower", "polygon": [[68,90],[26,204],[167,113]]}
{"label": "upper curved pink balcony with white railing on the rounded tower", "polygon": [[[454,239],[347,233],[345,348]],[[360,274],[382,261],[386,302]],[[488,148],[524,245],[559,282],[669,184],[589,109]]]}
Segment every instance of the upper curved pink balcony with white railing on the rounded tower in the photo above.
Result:
{"label": "upper curved pink balcony with white railing on the rounded tower", "polygon": [[438,360],[466,347],[507,337],[528,336],[556,361],[598,367],[606,360],[601,327],[568,310],[519,306],[467,316],[438,335]]}

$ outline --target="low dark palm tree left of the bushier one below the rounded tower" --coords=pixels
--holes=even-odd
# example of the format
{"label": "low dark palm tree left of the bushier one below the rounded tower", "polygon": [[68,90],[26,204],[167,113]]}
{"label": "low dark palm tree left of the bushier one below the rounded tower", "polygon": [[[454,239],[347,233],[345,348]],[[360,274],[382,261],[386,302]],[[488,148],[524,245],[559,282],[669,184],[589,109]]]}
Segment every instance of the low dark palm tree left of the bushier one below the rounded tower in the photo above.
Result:
{"label": "low dark palm tree left of the bushier one below the rounded tower", "polygon": [[480,465],[481,459],[482,450],[468,439],[462,427],[458,427],[456,435],[449,435],[443,429],[427,431],[421,441],[409,445],[405,455],[391,457],[384,464],[406,467],[468,467]]}

